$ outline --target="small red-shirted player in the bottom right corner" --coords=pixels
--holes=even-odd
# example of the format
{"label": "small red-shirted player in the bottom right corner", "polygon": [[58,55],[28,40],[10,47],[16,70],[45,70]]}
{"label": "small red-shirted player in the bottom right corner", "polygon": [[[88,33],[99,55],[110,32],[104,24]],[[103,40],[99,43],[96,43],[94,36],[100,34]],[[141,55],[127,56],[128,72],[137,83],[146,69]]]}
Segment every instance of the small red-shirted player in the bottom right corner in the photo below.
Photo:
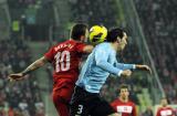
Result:
{"label": "small red-shirted player in the bottom right corner", "polygon": [[158,108],[156,116],[175,116],[175,110],[168,106],[166,97],[162,98],[162,107]]}

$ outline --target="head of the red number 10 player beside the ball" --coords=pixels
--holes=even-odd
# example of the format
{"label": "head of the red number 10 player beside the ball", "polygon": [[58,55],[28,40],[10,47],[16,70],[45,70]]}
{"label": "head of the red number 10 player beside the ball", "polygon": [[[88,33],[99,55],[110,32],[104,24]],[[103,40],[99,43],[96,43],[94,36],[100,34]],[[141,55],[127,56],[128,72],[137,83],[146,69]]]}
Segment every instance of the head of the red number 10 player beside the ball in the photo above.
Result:
{"label": "head of the red number 10 player beside the ball", "polygon": [[71,39],[76,40],[76,41],[86,41],[88,36],[88,29],[87,25],[84,23],[76,23],[70,34]]}

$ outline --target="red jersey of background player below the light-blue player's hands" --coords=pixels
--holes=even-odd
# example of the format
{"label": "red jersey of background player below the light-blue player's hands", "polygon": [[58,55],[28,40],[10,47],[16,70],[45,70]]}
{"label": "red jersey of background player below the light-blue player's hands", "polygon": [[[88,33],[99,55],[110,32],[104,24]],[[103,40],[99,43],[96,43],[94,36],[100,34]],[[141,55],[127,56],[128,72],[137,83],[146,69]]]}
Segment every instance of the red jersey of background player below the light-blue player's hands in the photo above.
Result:
{"label": "red jersey of background player below the light-blue player's hands", "polygon": [[136,106],[131,101],[123,103],[117,98],[111,105],[117,113],[122,114],[121,116],[137,116]]}

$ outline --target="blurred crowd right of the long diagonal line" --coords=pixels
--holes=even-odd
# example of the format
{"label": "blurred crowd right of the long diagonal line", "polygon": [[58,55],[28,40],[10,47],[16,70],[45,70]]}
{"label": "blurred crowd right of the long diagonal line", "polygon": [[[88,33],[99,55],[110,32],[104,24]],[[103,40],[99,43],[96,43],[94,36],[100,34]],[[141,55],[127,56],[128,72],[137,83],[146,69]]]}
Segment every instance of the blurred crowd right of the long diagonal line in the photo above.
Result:
{"label": "blurred crowd right of the long diagonal line", "polygon": [[165,93],[177,104],[177,1],[134,1]]}

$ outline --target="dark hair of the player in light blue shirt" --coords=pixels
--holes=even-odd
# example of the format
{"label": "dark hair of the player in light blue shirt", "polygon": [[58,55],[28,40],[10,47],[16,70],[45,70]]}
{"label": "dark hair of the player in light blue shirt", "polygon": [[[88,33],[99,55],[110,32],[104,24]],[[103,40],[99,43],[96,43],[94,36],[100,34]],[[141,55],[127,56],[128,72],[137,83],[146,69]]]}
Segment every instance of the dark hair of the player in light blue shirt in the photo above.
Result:
{"label": "dark hair of the player in light blue shirt", "polygon": [[117,40],[117,36],[119,36],[121,39],[124,36],[124,30],[119,29],[119,28],[115,28],[108,31],[107,33],[107,42],[115,42]]}

